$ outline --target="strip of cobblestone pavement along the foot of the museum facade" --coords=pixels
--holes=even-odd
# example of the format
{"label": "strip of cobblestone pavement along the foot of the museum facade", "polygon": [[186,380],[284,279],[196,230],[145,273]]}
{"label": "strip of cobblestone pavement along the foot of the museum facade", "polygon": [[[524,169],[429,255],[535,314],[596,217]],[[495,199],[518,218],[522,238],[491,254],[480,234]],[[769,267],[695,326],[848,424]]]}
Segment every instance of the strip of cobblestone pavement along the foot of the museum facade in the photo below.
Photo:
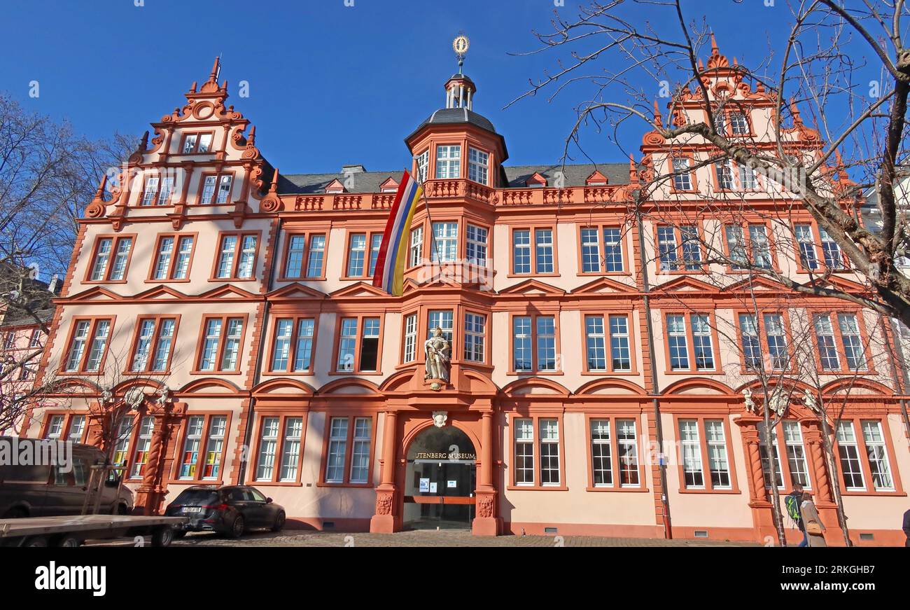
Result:
{"label": "strip of cobblestone pavement along the foot of the museum facade", "polygon": [[599,538],[595,536],[474,536],[461,530],[400,532],[398,534],[343,534],[300,532],[248,534],[229,540],[217,534],[188,534],[174,546],[758,546],[713,540],[663,540],[662,538]]}

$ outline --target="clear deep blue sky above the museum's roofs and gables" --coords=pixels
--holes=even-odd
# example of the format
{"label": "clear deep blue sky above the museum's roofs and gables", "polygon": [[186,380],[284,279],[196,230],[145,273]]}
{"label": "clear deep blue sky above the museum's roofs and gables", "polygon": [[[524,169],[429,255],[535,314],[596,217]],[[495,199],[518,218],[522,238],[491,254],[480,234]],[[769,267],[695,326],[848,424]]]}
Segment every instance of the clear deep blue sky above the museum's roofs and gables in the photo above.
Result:
{"label": "clear deep blue sky above the museum's roofs and gables", "polygon": [[[403,168],[402,142],[443,105],[442,85],[457,70],[451,39],[470,36],[464,71],[478,86],[474,109],[506,137],[510,165],[555,163],[574,118],[571,94],[538,96],[503,107],[530,77],[565,53],[510,56],[537,47],[531,30],[548,30],[553,0],[6,0],[0,40],[0,90],[25,107],[67,118],[80,133],[141,134],[185,101],[223,56],[228,103],[257,126],[257,144],[282,173]],[[558,8],[577,15],[577,2]],[[641,10],[641,9],[639,9]],[[789,30],[784,0],[691,0],[686,16],[710,13],[721,50],[757,64],[769,42]],[[658,27],[665,10],[646,15]],[[745,29],[743,29],[743,27]],[[673,30],[674,32],[676,30]],[[867,49],[856,46],[857,56]],[[707,50],[705,50],[705,56]],[[870,76],[873,77],[873,76]],[[40,97],[28,97],[30,81]],[[249,97],[237,96],[238,82]],[[627,130],[627,149],[641,129]],[[605,135],[588,133],[598,162],[622,161]],[[581,160],[581,159],[580,159]]]}

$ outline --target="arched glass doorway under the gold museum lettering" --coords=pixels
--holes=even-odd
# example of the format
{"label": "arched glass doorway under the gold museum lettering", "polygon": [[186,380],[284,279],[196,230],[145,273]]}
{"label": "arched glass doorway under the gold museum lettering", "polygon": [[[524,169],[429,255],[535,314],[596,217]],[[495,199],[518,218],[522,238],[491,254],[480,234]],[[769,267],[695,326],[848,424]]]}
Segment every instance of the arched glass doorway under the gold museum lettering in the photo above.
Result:
{"label": "arched glass doorway under the gold museum lettering", "polygon": [[470,529],[474,518],[477,453],[455,426],[431,426],[408,448],[405,529]]}

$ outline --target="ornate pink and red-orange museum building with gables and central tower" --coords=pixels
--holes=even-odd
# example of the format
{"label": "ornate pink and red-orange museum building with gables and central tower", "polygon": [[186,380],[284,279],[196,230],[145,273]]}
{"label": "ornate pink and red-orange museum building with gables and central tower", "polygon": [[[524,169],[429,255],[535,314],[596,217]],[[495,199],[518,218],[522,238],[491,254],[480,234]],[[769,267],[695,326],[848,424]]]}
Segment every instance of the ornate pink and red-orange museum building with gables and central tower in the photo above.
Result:
{"label": "ornate pink and red-orange museum building with gables and central tower", "polygon": [[[708,66],[712,98],[683,93],[663,119],[734,100],[719,113],[731,137],[775,144],[772,95],[716,46]],[[87,205],[37,371],[56,390],[28,436],[106,445],[147,513],[188,485],[248,483],[288,527],[763,542],[773,477],[782,494],[814,493],[829,544],[838,490],[856,544],[903,544],[907,396],[878,347],[890,327],[724,267],[689,239],[864,290],[807,211],[787,212],[797,239],[784,247],[771,217],[793,199],[763,178],[703,163],[700,138],[657,132],[622,163],[505,165],[506,137],[459,72],[442,107],[426,100],[429,117],[401,126],[425,198],[392,297],[371,278],[402,172],[280,174],[218,72]],[[798,113],[781,133],[793,154],[821,149]],[[668,168],[642,204],[668,221],[636,221],[640,186]],[[831,175],[833,188],[848,181]],[[698,212],[734,191],[748,202],[736,222]],[[427,363],[434,337],[444,371]],[[816,374],[780,364],[798,345]],[[773,447],[758,361],[790,392],[774,394]],[[836,418],[816,415],[822,401]]]}

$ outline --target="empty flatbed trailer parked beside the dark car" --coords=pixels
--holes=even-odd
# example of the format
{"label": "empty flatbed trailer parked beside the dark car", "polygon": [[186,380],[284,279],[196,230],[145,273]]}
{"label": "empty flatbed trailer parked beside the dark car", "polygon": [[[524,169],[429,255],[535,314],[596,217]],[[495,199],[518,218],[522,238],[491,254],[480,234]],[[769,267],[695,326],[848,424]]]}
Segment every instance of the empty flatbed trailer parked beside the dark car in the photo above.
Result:
{"label": "empty flatbed trailer parked beside the dark car", "polygon": [[186,517],[86,514],[68,517],[0,519],[0,546],[80,546],[86,540],[152,537],[152,546],[169,546],[174,527]]}

